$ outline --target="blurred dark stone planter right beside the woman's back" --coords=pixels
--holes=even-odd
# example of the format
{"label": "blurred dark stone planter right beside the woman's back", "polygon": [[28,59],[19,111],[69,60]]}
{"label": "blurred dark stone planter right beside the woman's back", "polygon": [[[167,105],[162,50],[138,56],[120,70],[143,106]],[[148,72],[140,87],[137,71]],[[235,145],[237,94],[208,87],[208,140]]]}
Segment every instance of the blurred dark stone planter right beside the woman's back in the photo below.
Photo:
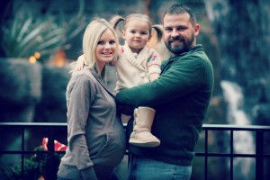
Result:
{"label": "blurred dark stone planter right beside the woman's back", "polygon": [[42,68],[42,94],[36,106],[37,122],[67,122],[66,89],[71,74],[69,65]]}

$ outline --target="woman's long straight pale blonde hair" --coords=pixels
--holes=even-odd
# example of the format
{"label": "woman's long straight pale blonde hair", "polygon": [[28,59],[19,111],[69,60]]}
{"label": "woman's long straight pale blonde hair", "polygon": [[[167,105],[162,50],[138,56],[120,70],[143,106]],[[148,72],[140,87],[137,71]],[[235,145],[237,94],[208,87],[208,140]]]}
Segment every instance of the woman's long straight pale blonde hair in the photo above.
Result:
{"label": "woman's long straight pale blonde hair", "polygon": [[[112,31],[116,43],[116,52],[118,52],[119,42],[117,39],[117,34],[113,30],[112,25],[103,18],[94,18],[94,20],[87,25],[83,38],[83,53],[85,56],[85,61],[87,63],[86,67],[88,68],[95,67],[97,60],[95,56],[95,49],[97,47],[98,40],[100,40],[100,37],[106,30]],[[71,66],[72,66],[71,72],[75,72],[76,62],[72,63]],[[99,69],[96,68],[96,70],[98,71]]]}

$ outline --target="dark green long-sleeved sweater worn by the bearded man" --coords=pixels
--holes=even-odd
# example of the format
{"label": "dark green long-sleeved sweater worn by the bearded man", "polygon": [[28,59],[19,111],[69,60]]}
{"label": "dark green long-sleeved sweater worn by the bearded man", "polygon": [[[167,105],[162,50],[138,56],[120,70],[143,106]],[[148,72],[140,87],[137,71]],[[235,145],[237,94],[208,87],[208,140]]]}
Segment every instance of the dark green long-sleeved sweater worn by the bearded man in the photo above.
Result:
{"label": "dark green long-sleeved sweater worn by the bearded man", "polygon": [[192,165],[212,89],[211,61],[202,45],[196,45],[164,61],[157,80],[121,90],[116,95],[118,105],[150,106],[156,110],[152,133],[161,141],[157,148],[130,145],[130,152],[175,165]]}

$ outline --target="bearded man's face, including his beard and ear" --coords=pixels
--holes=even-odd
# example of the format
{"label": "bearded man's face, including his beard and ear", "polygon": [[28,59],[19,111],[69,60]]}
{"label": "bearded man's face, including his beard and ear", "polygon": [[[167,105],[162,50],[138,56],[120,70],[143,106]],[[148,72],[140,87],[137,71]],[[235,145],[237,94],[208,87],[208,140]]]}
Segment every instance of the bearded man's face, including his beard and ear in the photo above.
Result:
{"label": "bearded man's face, including his beard and ear", "polygon": [[173,54],[178,55],[187,52],[195,44],[195,37],[199,34],[200,26],[193,27],[190,15],[166,14],[164,17],[164,40],[166,48]]}

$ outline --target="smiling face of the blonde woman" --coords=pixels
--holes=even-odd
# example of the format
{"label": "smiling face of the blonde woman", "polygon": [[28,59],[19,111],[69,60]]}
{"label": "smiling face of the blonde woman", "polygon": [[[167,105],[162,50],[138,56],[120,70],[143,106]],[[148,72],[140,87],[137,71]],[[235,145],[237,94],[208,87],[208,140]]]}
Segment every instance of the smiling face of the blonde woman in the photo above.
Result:
{"label": "smiling face of the blonde woman", "polygon": [[98,67],[101,67],[100,69],[102,69],[106,63],[112,61],[116,55],[116,49],[115,36],[111,30],[107,29],[101,35],[95,49],[96,63]]}

